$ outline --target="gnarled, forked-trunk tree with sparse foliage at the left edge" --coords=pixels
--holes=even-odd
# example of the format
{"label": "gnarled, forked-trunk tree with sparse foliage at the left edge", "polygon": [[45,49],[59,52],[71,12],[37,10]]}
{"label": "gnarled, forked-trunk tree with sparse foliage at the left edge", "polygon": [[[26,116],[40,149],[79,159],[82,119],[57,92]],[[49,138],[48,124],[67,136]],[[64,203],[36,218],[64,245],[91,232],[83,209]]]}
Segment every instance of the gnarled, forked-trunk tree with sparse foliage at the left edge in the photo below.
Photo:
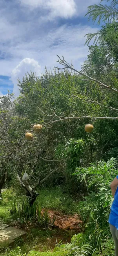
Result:
{"label": "gnarled, forked-trunk tree with sparse foliage at the left edge", "polygon": [[[27,142],[24,129],[32,127],[28,118],[16,115],[15,103],[12,102],[13,94],[1,97],[0,102],[0,195],[1,190],[10,176],[25,190],[30,204],[36,199],[36,186],[44,183],[54,172],[60,170],[60,160],[43,158],[43,147],[40,149],[38,135],[34,142]],[[44,137],[44,134],[40,136]],[[47,140],[45,140],[46,143]],[[31,147],[33,147],[31,149]],[[37,150],[38,149],[38,150]],[[42,178],[37,165],[40,160],[40,169],[47,163],[48,172]],[[54,165],[54,162],[56,163]],[[52,163],[53,169],[51,169]],[[56,166],[56,167],[55,167]],[[30,170],[29,170],[30,169]],[[24,172],[27,177],[23,179]]]}

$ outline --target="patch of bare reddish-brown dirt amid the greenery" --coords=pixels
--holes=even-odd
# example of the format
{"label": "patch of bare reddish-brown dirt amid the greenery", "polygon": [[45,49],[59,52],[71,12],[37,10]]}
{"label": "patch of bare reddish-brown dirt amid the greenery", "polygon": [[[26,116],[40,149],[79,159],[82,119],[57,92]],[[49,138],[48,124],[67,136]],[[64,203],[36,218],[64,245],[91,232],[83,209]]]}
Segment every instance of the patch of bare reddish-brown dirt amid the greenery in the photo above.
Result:
{"label": "patch of bare reddish-brown dirt amid the greenery", "polygon": [[56,217],[56,220],[54,222],[54,225],[60,229],[64,230],[75,230],[77,232],[81,232],[81,225],[82,221],[78,218],[78,215],[75,214],[72,215],[65,215],[62,214],[62,212],[59,211],[53,211],[53,210],[47,210],[49,213],[49,216],[51,220],[53,220],[53,217]]}

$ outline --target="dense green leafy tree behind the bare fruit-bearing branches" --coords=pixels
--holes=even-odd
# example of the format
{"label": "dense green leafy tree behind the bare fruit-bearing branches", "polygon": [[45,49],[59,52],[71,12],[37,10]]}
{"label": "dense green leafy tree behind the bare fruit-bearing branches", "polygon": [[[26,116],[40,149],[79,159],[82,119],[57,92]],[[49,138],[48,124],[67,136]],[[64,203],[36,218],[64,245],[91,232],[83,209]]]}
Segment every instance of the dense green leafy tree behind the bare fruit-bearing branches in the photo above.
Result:
{"label": "dense green leafy tree behind the bare fruit-bearing branches", "polygon": [[[104,85],[112,82],[114,92],[114,89],[118,88],[118,83],[117,80],[114,83],[116,71],[114,64],[111,63],[110,54],[108,54],[107,47],[103,51],[103,46],[102,48],[92,46],[88,56],[88,68],[82,67],[82,75],[79,76],[75,72],[69,73],[65,69],[65,72],[58,71],[54,75],[46,73],[40,79],[35,77],[31,79],[31,76],[27,76],[19,84],[22,95],[16,103],[16,109],[19,114],[27,116],[32,123],[42,122],[42,131],[50,138],[48,144],[45,143],[44,139],[41,145],[41,147],[46,145],[45,151],[50,154],[48,159],[54,158],[52,149],[56,152],[57,143],[63,147],[66,142],[69,142],[69,138],[73,138],[75,141],[81,138],[85,139],[87,143],[86,152],[84,152],[86,162],[83,161],[83,164],[100,160],[103,157],[107,159],[107,152],[110,152],[117,144],[117,119],[113,122],[112,119],[104,119],[104,117],[111,114],[115,117],[114,109],[118,107],[118,96],[113,93],[113,97],[111,97],[111,87],[106,90],[106,87],[102,87],[94,80],[85,79],[83,75],[84,73],[87,76],[94,74],[94,79],[97,81],[96,76],[100,77]],[[85,98],[85,94],[89,98]],[[114,106],[113,109],[111,105]],[[86,116],[90,116],[91,119],[93,113],[95,113],[95,117],[101,115],[103,119],[96,122],[96,118],[94,118],[91,121],[94,123],[95,129],[90,136],[85,133],[84,126],[87,122]],[[82,118],[78,118],[78,114]],[[61,125],[60,122],[62,122]],[[82,158],[84,157],[82,156]],[[64,169],[67,168],[65,160],[63,158]],[[71,174],[71,169],[69,169],[69,173]],[[63,175],[64,181],[67,175],[65,173]],[[58,184],[58,181],[57,183],[54,181],[54,184]],[[68,186],[70,186],[69,183]]]}

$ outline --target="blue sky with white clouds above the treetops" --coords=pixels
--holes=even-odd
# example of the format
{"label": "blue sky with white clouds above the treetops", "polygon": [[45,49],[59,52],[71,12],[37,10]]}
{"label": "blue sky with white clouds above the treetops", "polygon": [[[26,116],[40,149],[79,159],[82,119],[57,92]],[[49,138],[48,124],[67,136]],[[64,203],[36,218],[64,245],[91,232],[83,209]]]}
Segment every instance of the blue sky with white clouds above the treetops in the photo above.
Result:
{"label": "blue sky with white clouds above the treetops", "polygon": [[63,55],[80,69],[87,58],[87,33],[98,25],[84,17],[87,6],[100,0],[0,0],[0,95],[18,95],[18,77],[38,76]]}

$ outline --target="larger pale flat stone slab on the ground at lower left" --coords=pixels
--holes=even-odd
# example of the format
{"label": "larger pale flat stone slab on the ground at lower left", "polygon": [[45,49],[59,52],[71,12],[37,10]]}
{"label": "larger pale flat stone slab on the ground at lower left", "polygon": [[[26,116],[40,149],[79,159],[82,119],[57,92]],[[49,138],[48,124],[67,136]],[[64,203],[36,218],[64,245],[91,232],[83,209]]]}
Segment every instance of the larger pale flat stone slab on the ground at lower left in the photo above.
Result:
{"label": "larger pale flat stone slab on the ground at lower left", "polygon": [[14,227],[7,227],[4,230],[0,230],[0,236],[5,236],[10,240],[14,240],[15,238],[22,236],[24,234],[26,234],[26,232],[20,229],[16,229]]}

